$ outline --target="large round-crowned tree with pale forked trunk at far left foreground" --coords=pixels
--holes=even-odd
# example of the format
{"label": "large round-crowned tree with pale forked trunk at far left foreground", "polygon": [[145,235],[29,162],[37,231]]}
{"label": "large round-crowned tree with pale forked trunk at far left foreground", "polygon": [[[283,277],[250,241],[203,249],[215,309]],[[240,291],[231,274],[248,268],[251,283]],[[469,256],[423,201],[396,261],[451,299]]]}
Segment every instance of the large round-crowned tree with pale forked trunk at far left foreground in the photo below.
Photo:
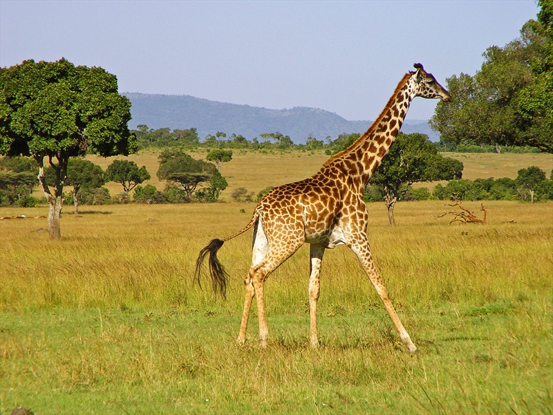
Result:
{"label": "large round-crowned tree with pale forked trunk at far left foreground", "polygon": [[[131,102],[119,95],[117,78],[102,68],[27,60],[0,68],[0,154],[32,156],[49,205],[50,238],[61,237],[59,218],[69,158],[136,149],[129,133]],[[46,160],[46,162],[45,162]],[[53,192],[44,177],[55,172]]]}

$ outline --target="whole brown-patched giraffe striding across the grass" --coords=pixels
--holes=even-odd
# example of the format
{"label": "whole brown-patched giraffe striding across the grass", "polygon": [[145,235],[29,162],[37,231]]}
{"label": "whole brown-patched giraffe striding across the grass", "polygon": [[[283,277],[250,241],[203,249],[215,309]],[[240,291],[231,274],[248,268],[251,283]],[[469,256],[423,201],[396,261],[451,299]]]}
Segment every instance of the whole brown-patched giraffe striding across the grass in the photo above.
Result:
{"label": "whole brown-patched giraffe striding across the grass", "polygon": [[386,107],[371,127],[348,149],[331,156],[319,172],[302,181],[275,187],[256,205],[252,219],[245,228],[225,239],[212,239],[200,251],[195,278],[209,254],[209,275],[214,290],[225,297],[228,275],[217,252],[225,241],[250,228],[253,231],[252,264],[244,280],[244,311],[238,343],[246,338],[247,320],[252,300],[256,297],[261,347],[267,347],[268,326],[263,291],[265,280],[275,269],[296,252],[303,243],[310,244],[310,276],[308,283],[310,314],[310,345],[317,347],[317,301],[319,275],[326,249],[346,245],[353,250],[384,303],[384,308],[410,353],[417,350],[388,297],[371,254],[363,190],[397,136],[411,101],[415,97],[452,100],[451,95],[421,64],[406,73],[397,84]]}

